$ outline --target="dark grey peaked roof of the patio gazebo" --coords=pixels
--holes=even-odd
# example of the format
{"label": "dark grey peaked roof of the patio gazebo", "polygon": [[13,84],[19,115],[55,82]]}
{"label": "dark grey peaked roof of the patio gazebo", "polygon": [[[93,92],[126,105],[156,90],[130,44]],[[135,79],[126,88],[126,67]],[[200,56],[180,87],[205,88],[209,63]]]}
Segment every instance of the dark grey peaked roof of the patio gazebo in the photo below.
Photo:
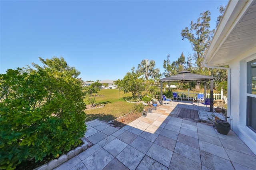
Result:
{"label": "dark grey peaked roof of the patio gazebo", "polygon": [[184,70],[180,71],[176,75],[160,79],[160,81],[206,81],[213,80],[214,78],[216,77],[194,74],[190,73],[190,71]]}

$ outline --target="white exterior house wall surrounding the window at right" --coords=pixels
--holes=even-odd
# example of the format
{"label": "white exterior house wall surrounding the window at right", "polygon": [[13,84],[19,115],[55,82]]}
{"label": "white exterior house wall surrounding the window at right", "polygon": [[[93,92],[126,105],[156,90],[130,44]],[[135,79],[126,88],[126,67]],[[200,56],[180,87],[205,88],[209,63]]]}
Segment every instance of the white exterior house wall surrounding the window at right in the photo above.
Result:
{"label": "white exterior house wall surrounding the window at right", "polygon": [[[246,63],[256,59],[256,53],[248,56],[241,55],[230,62],[230,124],[232,130],[244,141],[244,143],[256,154],[256,133],[246,126],[246,92],[247,73]],[[256,103],[255,103],[256,104]]]}

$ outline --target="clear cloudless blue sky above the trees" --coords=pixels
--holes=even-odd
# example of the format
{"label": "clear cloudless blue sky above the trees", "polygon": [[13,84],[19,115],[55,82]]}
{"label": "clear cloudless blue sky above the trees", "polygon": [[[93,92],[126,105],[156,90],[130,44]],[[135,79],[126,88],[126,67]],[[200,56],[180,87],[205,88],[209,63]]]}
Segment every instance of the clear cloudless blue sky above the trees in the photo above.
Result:
{"label": "clear cloudless blue sky above the trees", "polygon": [[122,79],[143,59],[175,61],[192,54],[181,31],[200,13],[211,27],[227,0],[0,1],[0,73],[64,57],[86,80]]}

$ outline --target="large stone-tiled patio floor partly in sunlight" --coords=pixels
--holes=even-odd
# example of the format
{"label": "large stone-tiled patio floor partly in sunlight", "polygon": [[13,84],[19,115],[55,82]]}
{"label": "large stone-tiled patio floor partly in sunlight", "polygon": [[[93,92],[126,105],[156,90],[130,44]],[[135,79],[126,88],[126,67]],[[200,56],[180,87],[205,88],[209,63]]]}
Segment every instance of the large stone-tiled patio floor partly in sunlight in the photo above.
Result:
{"label": "large stone-tiled patio floor partly in sunlight", "polygon": [[182,101],[161,105],[120,129],[86,122],[88,149],[55,170],[256,169],[256,155],[232,130],[223,135],[193,120],[207,122],[212,114],[207,111]]}

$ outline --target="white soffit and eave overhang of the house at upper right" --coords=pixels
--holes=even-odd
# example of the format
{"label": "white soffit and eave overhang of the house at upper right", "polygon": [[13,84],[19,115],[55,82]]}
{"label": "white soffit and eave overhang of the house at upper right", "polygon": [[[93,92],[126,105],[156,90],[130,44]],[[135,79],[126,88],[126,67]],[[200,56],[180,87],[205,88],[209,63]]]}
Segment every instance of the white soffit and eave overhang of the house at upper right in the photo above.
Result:
{"label": "white soffit and eave overhang of the house at upper right", "polygon": [[256,0],[230,0],[202,65],[228,65],[256,51]]}

